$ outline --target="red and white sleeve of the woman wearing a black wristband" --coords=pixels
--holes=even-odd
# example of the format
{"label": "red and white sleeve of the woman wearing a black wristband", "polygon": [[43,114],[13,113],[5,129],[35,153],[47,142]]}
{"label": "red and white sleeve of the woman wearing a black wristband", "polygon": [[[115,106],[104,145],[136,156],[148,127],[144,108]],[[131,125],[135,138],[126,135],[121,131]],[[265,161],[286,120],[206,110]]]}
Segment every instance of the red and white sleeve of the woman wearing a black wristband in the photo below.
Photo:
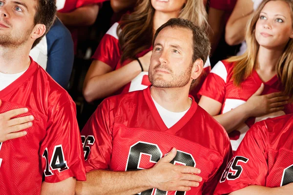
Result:
{"label": "red and white sleeve of the woman wearing a black wristband", "polygon": [[106,32],[92,57],[92,59],[100,60],[108,64],[112,70],[115,69],[121,57],[121,50],[117,35],[118,25],[119,24],[117,22],[114,23],[113,26],[111,26],[111,28]]}

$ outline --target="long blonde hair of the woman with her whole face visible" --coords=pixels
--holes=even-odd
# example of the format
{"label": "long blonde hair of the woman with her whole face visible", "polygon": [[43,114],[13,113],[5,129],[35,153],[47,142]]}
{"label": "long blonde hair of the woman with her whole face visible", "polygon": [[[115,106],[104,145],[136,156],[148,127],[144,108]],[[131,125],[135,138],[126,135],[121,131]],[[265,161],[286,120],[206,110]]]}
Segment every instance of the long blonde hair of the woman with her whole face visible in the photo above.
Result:
{"label": "long blonde hair of the woman with her whole face visible", "polygon": [[[241,82],[248,78],[251,75],[253,69],[255,69],[256,57],[259,49],[259,44],[255,38],[255,26],[257,20],[259,19],[261,10],[269,1],[271,0],[262,1],[262,3],[255,11],[252,19],[248,23],[245,35],[247,44],[246,52],[241,56],[234,56],[228,59],[229,62],[235,62],[232,78],[234,79],[234,84],[236,86],[240,86]],[[293,22],[293,0],[282,1],[285,1],[289,4]],[[276,72],[283,85],[284,93],[290,98],[293,98],[293,39],[288,41],[283,55],[278,60],[276,65]]]}

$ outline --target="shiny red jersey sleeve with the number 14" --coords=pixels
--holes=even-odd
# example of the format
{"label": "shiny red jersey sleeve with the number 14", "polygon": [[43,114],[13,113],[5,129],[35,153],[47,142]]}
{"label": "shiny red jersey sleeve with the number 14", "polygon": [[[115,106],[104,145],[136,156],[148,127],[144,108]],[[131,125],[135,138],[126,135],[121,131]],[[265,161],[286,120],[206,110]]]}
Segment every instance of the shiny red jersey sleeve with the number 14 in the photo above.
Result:
{"label": "shiny red jersey sleeve with the number 14", "polygon": [[41,145],[45,182],[56,183],[69,177],[85,180],[84,153],[76,119],[76,106],[64,93],[48,114],[46,136]]}

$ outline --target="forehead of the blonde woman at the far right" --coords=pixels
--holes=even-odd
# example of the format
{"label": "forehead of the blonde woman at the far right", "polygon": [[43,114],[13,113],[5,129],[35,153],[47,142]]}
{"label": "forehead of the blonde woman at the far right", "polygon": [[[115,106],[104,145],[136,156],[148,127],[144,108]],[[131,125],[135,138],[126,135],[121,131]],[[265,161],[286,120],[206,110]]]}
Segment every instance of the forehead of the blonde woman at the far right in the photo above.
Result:
{"label": "forehead of the blonde woman at the far right", "polygon": [[271,0],[265,4],[261,12],[265,12],[268,15],[282,15],[287,19],[291,18],[291,9],[289,4],[283,0]]}

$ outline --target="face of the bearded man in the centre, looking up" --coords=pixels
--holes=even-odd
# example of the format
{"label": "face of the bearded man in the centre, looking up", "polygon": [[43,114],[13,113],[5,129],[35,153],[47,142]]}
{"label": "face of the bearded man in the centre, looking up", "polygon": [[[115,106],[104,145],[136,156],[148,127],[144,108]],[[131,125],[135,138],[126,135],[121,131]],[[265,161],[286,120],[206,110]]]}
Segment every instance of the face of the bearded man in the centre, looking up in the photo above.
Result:
{"label": "face of the bearded man in the centre, looking up", "polygon": [[166,27],[154,42],[148,77],[154,87],[184,87],[191,82],[192,31],[180,27]]}

